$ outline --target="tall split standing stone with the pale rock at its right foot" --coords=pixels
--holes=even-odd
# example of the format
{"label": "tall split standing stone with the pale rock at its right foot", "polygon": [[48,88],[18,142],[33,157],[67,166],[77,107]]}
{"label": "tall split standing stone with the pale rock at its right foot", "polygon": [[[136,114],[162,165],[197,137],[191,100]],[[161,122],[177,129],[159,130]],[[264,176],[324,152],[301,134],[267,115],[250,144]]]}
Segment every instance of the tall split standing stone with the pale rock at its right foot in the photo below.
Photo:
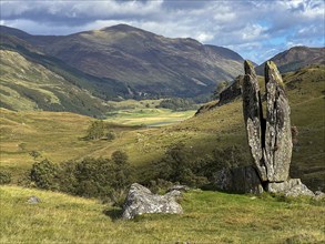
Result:
{"label": "tall split standing stone with the pale rock at its right foot", "polygon": [[271,61],[265,64],[265,119],[254,67],[245,61],[244,68],[243,113],[248,145],[261,184],[272,193],[314,196],[299,179],[288,179],[293,149],[291,110],[276,65]]}

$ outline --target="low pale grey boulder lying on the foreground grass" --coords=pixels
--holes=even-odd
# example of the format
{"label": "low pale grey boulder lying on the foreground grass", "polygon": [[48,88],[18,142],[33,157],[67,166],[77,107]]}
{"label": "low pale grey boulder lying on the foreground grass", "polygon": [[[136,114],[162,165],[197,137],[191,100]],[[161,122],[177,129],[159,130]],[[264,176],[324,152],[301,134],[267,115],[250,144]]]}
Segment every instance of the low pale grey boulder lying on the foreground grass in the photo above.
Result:
{"label": "low pale grey boulder lying on the foreground grass", "polygon": [[149,189],[133,183],[124,202],[122,217],[130,220],[144,213],[183,213],[182,206],[176,202],[181,196],[180,191],[156,195]]}

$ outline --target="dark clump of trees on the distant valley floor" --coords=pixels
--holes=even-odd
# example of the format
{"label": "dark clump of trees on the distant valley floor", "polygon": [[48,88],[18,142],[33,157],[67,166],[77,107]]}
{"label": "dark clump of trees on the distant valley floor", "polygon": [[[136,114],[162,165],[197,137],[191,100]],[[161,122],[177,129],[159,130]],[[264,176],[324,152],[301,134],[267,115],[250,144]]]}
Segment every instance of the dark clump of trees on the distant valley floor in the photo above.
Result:
{"label": "dark clump of trees on the distant valley floor", "polygon": [[163,100],[156,108],[170,109],[173,111],[196,110],[197,104],[191,99],[172,98]]}

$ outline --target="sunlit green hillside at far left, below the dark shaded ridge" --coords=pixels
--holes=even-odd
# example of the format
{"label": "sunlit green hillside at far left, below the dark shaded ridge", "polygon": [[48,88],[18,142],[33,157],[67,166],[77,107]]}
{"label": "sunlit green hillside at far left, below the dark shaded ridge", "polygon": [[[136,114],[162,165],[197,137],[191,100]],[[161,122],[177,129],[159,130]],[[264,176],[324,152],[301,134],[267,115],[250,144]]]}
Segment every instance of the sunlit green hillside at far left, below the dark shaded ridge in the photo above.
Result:
{"label": "sunlit green hillside at far left, below the dark shaded ridge", "polygon": [[0,50],[0,105],[11,110],[102,114],[103,101],[19,52]]}

